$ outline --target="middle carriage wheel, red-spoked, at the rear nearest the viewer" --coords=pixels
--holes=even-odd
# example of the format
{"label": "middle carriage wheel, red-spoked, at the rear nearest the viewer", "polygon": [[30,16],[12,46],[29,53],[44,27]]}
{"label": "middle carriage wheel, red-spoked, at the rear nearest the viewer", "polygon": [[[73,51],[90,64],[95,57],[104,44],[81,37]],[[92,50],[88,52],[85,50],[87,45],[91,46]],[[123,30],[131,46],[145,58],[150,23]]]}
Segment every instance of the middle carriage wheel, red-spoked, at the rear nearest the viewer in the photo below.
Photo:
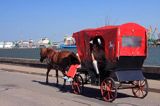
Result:
{"label": "middle carriage wheel, red-spoked, at the rear nearest the viewer", "polygon": [[117,97],[117,88],[112,78],[106,78],[103,80],[100,86],[101,95],[107,102],[112,102]]}

